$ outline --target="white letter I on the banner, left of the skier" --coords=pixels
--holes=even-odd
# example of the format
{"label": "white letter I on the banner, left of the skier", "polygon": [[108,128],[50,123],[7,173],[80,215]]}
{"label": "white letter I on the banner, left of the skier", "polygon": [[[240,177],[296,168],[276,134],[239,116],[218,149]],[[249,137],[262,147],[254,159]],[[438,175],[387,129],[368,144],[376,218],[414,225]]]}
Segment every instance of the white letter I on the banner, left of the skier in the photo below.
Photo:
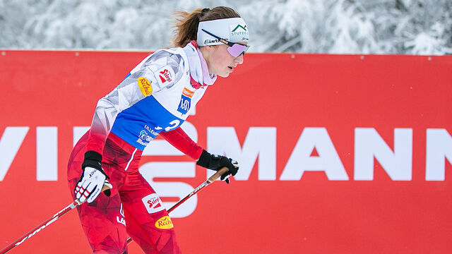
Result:
{"label": "white letter I on the banner, left of the skier", "polygon": [[36,180],[58,181],[58,129],[36,127]]}

